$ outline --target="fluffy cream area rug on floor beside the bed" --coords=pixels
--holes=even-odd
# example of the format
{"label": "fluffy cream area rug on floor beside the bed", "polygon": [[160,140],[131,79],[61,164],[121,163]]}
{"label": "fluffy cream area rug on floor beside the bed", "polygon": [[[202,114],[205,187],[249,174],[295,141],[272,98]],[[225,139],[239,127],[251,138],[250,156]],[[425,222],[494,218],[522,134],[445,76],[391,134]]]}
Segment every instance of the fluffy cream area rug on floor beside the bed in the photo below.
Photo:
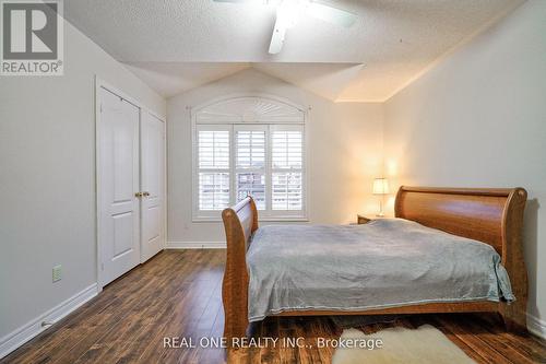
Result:
{"label": "fluffy cream area rug on floor beside the bed", "polygon": [[[349,339],[357,339],[351,342]],[[372,348],[377,339],[382,341],[381,348],[355,348],[368,342],[367,348]],[[376,340],[373,343],[370,340]],[[475,363],[459,347],[451,342],[440,330],[423,325],[412,330],[394,327],[371,334],[365,334],[356,329],[343,330],[340,343],[349,348],[337,347],[332,357],[332,364],[465,364]]]}

